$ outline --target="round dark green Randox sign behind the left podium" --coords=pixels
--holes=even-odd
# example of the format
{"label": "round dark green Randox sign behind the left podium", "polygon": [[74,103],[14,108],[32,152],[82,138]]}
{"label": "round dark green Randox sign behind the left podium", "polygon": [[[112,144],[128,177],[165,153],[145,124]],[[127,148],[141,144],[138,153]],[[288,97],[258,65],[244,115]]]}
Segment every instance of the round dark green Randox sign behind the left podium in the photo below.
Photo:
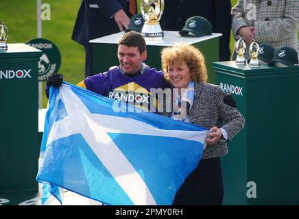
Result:
{"label": "round dark green Randox sign behind the left podium", "polygon": [[43,51],[38,61],[38,81],[47,81],[47,78],[56,74],[60,68],[61,55],[58,47],[44,38],[29,40],[26,44]]}

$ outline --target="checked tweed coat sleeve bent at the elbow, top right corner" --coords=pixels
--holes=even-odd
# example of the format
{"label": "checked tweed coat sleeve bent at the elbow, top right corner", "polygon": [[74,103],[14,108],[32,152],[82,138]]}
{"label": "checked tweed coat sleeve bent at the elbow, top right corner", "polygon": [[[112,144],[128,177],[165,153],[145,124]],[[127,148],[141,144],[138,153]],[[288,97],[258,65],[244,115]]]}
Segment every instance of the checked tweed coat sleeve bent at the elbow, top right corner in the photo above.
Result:
{"label": "checked tweed coat sleeve bent at the elbow, top right corner", "polygon": [[259,42],[276,42],[293,37],[299,30],[299,1],[287,0],[283,18],[273,21],[255,21],[254,30],[256,40]]}

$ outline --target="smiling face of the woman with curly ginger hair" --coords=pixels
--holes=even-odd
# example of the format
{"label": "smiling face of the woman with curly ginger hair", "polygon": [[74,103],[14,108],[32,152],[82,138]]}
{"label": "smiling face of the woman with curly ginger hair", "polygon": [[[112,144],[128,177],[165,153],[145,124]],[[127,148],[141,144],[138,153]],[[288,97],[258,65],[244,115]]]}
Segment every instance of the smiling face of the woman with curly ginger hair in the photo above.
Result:
{"label": "smiling face of the woman with curly ginger hair", "polygon": [[191,81],[191,74],[189,67],[183,61],[171,63],[167,69],[169,81],[175,88],[187,88]]}

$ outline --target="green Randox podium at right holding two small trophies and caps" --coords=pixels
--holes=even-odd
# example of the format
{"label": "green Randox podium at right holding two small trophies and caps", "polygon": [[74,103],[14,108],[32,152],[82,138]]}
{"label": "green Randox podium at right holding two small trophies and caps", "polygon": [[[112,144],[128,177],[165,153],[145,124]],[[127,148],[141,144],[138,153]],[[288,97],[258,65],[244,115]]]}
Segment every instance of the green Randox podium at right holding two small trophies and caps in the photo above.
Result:
{"label": "green Randox podium at right holding two small trophies and caps", "polygon": [[213,68],[246,118],[222,157],[224,205],[298,205],[299,67]]}

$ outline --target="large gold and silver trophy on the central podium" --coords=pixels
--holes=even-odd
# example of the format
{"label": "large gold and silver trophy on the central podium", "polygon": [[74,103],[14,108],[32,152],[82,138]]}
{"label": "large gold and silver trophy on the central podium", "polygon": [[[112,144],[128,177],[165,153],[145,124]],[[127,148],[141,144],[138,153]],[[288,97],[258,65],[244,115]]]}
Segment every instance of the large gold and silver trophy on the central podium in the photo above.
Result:
{"label": "large gold and silver trophy on the central podium", "polygon": [[141,30],[142,36],[147,41],[163,41],[164,34],[159,21],[164,10],[164,0],[141,0],[140,6],[145,21]]}

